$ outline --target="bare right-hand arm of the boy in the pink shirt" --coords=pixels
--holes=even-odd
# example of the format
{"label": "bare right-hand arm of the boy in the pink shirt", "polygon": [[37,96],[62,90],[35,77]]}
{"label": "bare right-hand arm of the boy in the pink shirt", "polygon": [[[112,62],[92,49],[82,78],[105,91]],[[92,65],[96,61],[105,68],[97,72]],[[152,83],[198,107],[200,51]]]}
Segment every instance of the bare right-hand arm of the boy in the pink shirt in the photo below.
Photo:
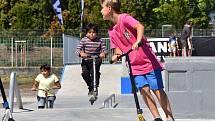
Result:
{"label": "bare right-hand arm of the boy in the pink shirt", "polygon": [[134,28],[137,30],[137,41],[132,45],[132,49],[137,49],[139,47],[138,44],[142,41],[144,35],[144,26],[141,23],[138,23]]}

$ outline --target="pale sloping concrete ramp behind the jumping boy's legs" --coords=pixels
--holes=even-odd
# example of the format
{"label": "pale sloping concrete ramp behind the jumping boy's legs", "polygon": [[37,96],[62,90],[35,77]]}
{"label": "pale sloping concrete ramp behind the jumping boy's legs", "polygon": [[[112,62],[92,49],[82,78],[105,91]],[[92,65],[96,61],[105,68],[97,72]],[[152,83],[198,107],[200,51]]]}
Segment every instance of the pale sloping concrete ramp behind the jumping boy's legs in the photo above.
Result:
{"label": "pale sloping concrete ramp behind the jumping boy's legs", "polygon": [[[99,95],[120,94],[121,65],[101,66]],[[87,96],[88,88],[81,77],[81,65],[66,65],[58,97]]]}

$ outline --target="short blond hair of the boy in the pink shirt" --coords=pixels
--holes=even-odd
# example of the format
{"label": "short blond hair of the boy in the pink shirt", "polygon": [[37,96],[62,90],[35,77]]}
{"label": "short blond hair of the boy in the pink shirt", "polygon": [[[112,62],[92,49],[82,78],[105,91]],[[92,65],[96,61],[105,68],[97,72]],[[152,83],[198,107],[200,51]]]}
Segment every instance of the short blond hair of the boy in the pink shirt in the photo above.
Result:
{"label": "short blond hair of the boy in the pink shirt", "polygon": [[121,3],[119,0],[100,0],[100,4],[110,6],[116,13],[120,13]]}

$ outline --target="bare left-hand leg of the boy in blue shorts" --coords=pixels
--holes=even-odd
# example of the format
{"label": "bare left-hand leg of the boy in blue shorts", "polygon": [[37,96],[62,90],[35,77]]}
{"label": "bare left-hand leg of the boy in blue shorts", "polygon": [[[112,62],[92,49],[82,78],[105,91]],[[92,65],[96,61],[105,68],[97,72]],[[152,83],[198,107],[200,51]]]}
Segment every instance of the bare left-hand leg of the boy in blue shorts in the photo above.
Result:
{"label": "bare left-hand leg of the boy in blue shorts", "polygon": [[141,90],[141,94],[143,96],[143,100],[145,101],[145,104],[148,106],[153,117],[160,118],[160,114],[158,112],[156,102],[150,92],[149,87],[143,87]]}

